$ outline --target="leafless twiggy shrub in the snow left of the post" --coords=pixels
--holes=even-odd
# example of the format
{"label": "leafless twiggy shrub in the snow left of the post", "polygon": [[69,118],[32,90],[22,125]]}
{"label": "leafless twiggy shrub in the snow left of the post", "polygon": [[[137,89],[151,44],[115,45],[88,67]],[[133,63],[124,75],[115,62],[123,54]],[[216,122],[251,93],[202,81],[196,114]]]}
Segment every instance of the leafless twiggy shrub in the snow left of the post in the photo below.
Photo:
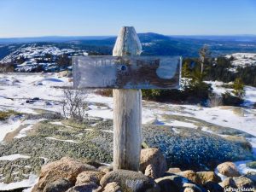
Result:
{"label": "leafless twiggy shrub in the snow left of the post", "polygon": [[66,119],[83,121],[86,117],[88,90],[63,90],[62,112]]}

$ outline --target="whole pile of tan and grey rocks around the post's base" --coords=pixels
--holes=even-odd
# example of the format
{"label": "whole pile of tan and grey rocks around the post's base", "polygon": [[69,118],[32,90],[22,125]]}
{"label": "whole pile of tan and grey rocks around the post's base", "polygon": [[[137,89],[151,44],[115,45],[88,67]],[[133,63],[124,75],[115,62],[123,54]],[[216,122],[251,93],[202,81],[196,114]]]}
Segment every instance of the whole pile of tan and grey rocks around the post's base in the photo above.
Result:
{"label": "whole pile of tan and grey rocks around the post's base", "polygon": [[113,171],[111,166],[84,164],[67,157],[42,167],[32,192],[218,192],[227,188],[252,188],[252,178],[241,176],[231,162],[218,165],[218,172],[167,169],[166,159],[157,148],[141,153],[140,172]]}

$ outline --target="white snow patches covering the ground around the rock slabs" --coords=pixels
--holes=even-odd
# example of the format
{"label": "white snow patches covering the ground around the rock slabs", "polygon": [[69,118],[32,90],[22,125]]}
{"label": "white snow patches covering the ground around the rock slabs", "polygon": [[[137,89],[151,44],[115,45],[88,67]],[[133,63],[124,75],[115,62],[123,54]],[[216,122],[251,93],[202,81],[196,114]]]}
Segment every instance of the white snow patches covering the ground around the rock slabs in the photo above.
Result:
{"label": "white snow patches covering the ground around the rock slabs", "polygon": [[[211,82],[214,91],[220,93],[226,89],[221,88],[221,82]],[[0,74],[0,110],[13,109],[22,113],[37,113],[38,109],[44,109],[54,112],[61,112],[62,90],[54,86],[71,86],[66,77],[60,77],[58,73],[31,73],[31,74]],[[39,98],[34,102],[26,101],[33,98]],[[90,93],[87,97],[90,102],[88,115],[90,118],[101,117],[103,119],[113,119],[113,98],[98,96]],[[256,88],[246,87],[247,102],[256,102]],[[104,105],[98,107],[96,102]],[[105,107],[104,107],[105,106]],[[106,107],[107,106],[107,107]],[[178,119],[166,119],[165,115],[178,115],[183,117],[192,117],[201,119],[215,125],[235,128],[246,131],[256,137],[256,110],[253,108],[233,108],[233,107],[216,107],[204,108],[196,105],[175,105],[156,102],[143,102],[143,124],[155,121],[160,125],[183,126],[191,129],[198,127],[193,120],[185,122]],[[1,122],[0,125],[0,142],[11,131],[15,131],[20,125],[28,125],[22,129],[16,137],[26,137],[26,131],[32,129],[32,125],[39,120],[22,121],[22,119],[9,119]],[[53,122],[61,124],[61,122]],[[173,128],[175,129],[175,128]],[[204,130],[204,129],[203,129]],[[205,129],[207,131],[207,129]],[[178,134],[178,131],[177,131]],[[48,139],[55,139],[49,137]],[[253,145],[253,151],[256,154],[256,139],[248,139]],[[72,140],[65,142],[73,142]],[[13,160],[15,158],[26,158],[22,154],[12,154],[0,157],[0,160]],[[238,165],[241,172],[247,170],[244,163]],[[14,189],[14,186],[32,186],[37,177],[31,175],[29,179],[20,183],[4,184],[0,183],[0,189]]]}

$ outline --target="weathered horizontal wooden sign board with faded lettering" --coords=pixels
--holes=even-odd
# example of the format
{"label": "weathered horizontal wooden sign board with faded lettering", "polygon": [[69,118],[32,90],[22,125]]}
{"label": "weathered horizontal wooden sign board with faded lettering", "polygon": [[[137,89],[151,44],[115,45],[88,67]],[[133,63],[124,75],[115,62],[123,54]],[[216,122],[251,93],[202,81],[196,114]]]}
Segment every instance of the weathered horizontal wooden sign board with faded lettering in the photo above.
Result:
{"label": "weathered horizontal wooden sign board with faded lettering", "polygon": [[74,56],[75,88],[176,89],[180,56]]}

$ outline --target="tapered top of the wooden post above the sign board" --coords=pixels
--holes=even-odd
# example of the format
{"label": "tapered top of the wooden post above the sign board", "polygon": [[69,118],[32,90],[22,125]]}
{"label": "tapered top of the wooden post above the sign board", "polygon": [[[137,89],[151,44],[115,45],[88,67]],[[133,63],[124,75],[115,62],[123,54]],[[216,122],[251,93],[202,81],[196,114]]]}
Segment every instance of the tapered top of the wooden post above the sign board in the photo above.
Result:
{"label": "tapered top of the wooden post above the sign board", "polygon": [[142,44],[133,26],[123,26],[113,47],[113,56],[140,55]]}

